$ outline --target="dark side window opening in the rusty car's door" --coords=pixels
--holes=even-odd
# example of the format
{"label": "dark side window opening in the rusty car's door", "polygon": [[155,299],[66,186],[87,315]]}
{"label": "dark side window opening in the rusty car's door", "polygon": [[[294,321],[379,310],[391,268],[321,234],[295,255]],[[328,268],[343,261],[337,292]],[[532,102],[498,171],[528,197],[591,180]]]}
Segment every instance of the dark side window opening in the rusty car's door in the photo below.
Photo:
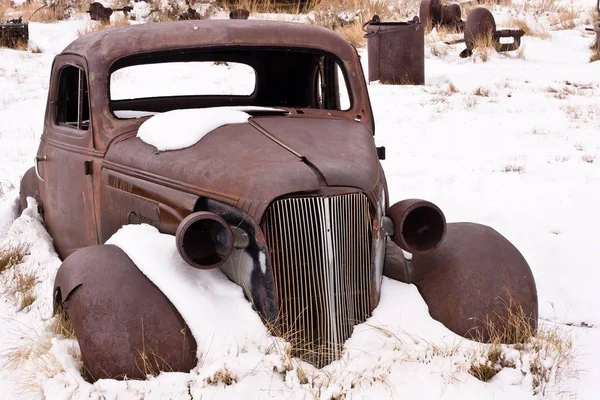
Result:
{"label": "dark side window opening in the rusty car's door", "polygon": [[90,107],[85,72],[70,65],[60,71],[56,122],[80,130],[88,130]]}

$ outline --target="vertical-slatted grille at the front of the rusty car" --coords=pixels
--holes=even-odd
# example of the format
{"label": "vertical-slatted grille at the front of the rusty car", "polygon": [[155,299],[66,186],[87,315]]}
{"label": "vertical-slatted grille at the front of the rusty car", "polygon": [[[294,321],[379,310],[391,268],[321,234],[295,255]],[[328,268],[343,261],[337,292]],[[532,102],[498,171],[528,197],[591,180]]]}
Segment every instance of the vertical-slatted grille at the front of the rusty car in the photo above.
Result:
{"label": "vertical-slatted grille at the front of the rusty car", "polygon": [[277,326],[296,356],[328,364],[370,313],[368,199],[354,193],[279,200],[263,229],[280,304]]}

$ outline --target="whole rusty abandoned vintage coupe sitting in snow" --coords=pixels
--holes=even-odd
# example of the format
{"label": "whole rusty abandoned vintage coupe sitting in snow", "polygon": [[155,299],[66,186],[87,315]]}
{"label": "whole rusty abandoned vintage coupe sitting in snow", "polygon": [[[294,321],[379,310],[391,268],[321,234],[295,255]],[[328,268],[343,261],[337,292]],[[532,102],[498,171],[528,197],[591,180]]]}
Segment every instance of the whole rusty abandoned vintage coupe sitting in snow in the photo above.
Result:
{"label": "whole rusty abandoned vintage coupe sitting in snow", "polygon": [[[115,88],[128,68],[179,64],[241,65],[252,84],[200,93],[183,81],[169,96],[136,84],[137,97]],[[164,89],[158,81],[167,78],[150,83]],[[176,150],[137,136],[155,116],[225,106],[250,118]],[[400,128],[398,135],[411,134]],[[278,332],[295,323],[317,350],[296,355],[317,367],[339,357],[377,307],[384,275],[414,283],[431,315],[465,337],[488,340],[488,323],[502,323],[508,302],[535,329],[536,286],[521,253],[492,228],[446,223],[428,201],[390,205],[374,133],[358,52],[325,28],[173,21],[68,45],[52,66],[44,131],[20,202],[37,200],[63,260],[55,311],[71,320],[93,379],[144,378],[136,366],[142,346],[172,371],[198,362],[197,343],[182,334],[186,322],[168,298],[119,247],[104,244],[126,224],[176,236],[189,268],[220,268]]]}

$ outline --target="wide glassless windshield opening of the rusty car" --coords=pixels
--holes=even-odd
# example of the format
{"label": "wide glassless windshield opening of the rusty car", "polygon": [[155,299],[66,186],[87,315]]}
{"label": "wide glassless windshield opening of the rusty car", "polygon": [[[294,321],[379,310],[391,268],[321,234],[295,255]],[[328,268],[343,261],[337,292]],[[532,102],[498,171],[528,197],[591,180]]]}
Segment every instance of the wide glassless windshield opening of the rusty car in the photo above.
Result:
{"label": "wide glassless windshield opening of the rusty car", "polygon": [[289,48],[225,48],[121,59],[109,79],[117,118],[206,107],[347,111],[346,71],[333,54]]}

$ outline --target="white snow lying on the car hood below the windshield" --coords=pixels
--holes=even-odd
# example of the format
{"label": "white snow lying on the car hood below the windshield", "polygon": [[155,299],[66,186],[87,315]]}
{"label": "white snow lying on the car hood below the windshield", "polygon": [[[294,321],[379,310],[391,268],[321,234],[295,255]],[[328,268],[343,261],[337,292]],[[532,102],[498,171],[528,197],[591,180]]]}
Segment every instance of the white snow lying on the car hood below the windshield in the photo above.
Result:
{"label": "white snow lying on the car hood below the windshield", "polygon": [[142,123],[137,137],[158,151],[180,150],[198,143],[206,134],[228,124],[248,121],[244,111],[283,111],[267,107],[208,107],[172,110]]}

